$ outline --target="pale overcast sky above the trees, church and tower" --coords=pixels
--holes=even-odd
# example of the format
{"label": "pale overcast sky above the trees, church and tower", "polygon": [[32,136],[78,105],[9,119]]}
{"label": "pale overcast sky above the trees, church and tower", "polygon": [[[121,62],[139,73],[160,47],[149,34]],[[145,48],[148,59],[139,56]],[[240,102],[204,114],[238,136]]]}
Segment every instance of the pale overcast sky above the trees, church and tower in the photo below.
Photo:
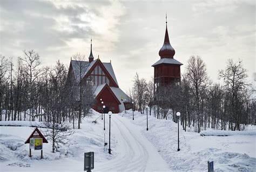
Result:
{"label": "pale overcast sky above the trees, church and tower", "polygon": [[242,59],[248,81],[255,73],[255,1],[11,1],[0,0],[0,53],[23,56],[35,50],[42,65],[73,54],[111,60],[122,90],[136,72],[149,80],[164,43],[165,13],[175,59],[184,72],[191,55],[205,61],[219,82],[226,61]]}

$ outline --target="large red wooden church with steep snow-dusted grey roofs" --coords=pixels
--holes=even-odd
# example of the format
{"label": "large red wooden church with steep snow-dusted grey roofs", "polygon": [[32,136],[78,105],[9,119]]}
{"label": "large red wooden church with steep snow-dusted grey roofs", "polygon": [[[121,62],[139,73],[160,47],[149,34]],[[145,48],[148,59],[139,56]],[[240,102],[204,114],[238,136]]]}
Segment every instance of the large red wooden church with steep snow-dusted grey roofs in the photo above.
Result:
{"label": "large red wooden church with steep snow-dusted grey roofs", "polygon": [[84,84],[91,85],[96,99],[96,103],[92,107],[95,111],[102,113],[103,105],[106,106],[105,111],[107,112],[119,113],[125,110],[124,104],[129,98],[118,86],[111,61],[103,63],[99,58],[94,59],[92,40],[89,61],[71,59],[68,75],[74,80],[82,75]]}

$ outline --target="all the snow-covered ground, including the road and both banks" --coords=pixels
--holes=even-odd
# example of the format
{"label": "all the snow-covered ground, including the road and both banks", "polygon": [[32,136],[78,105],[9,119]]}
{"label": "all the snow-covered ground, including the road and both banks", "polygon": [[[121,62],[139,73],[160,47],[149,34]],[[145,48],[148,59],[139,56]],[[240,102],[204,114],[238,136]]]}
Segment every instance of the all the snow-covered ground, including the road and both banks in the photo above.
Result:
{"label": "all the snow-covered ground, including the road and both banks", "polygon": [[[230,136],[200,136],[184,132],[180,126],[177,152],[177,123],[149,115],[147,131],[146,115],[134,112],[133,121],[132,111],[126,111],[112,115],[110,155],[109,145],[104,147],[104,134],[109,144],[109,116],[105,116],[106,130],[99,116],[93,111],[92,116],[84,118],[82,129],[76,129],[69,145],[57,153],[51,153],[51,143],[44,143],[43,160],[36,150],[30,158],[29,145],[24,144],[34,129],[28,126],[34,123],[17,122],[19,127],[13,127],[8,125],[15,125],[15,121],[0,122],[0,171],[83,171],[84,153],[91,151],[95,152],[92,171],[206,171],[207,161],[214,161],[215,171],[256,169],[256,127],[247,129],[246,135],[227,131]],[[92,123],[95,119],[96,124]],[[216,133],[210,130],[205,135]]]}

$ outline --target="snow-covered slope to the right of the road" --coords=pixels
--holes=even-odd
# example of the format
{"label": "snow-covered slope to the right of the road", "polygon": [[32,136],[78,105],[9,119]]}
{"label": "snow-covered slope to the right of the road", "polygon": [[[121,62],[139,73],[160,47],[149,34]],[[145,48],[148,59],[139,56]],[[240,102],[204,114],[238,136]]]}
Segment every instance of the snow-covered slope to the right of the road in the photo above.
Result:
{"label": "snow-covered slope to the right of the road", "polygon": [[146,115],[134,112],[134,121],[132,111],[120,115],[138,126],[144,126],[143,135],[157,148],[171,171],[206,171],[207,161],[214,161],[215,171],[256,170],[255,130],[250,132],[253,135],[200,136],[184,132],[180,126],[180,151],[177,152],[177,123],[148,115],[147,131]]}

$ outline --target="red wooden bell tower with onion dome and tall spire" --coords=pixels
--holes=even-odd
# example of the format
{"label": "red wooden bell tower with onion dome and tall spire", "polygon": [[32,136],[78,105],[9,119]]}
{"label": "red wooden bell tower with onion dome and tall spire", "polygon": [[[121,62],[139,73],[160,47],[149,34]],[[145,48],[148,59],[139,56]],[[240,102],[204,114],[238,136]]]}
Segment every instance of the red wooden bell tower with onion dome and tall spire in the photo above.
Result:
{"label": "red wooden bell tower with onion dome and tall spire", "polygon": [[168,30],[167,30],[167,15],[166,15],[166,30],[164,45],[159,51],[160,60],[154,63],[154,90],[158,90],[158,87],[169,86],[180,82],[180,66],[178,60],[174,59],[173,56],[175,50],[170,44]]}

